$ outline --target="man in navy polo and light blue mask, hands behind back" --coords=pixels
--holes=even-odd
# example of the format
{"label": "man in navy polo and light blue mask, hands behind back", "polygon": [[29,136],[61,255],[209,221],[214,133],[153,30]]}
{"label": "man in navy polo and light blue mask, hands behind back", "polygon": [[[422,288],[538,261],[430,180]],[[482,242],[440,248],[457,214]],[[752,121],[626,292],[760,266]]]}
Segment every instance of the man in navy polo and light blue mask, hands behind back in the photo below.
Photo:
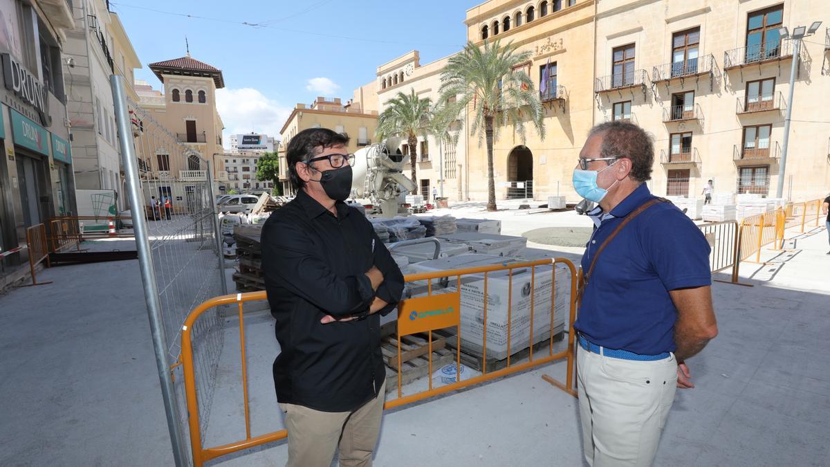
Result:
{"label": "man in navy polo and light blue mask, hands behind back", "polygon": [[577,379],[585,459],[651,465],[684,361],[717,335],[710,247],[674,205],[654,197],[654,148],[639,126],[591,130],[574,189],[598,203],[582,258]]}

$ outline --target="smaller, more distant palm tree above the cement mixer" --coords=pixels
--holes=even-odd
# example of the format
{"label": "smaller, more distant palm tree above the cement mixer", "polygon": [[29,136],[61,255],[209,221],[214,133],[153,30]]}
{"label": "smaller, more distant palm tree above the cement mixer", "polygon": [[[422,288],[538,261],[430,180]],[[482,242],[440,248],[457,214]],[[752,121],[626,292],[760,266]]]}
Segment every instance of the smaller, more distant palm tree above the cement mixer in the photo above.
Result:
{"label": "smaller, more distant palm tree above the cement mixer", "polygon": [[394,135],[407,138],[409,161],[412,164],[413,185],[415,187],[413,188],[413,194],[418,193],[417,176],[415,174],[417,136],[423,135],[426,138],[431,107],[432,101],[429,98],[418,97],[414,89],[409,94],[398,92],[397,96],[386,101],[386,109],[378,116],[378,128],[375,130],[378,140],[384,140]]}

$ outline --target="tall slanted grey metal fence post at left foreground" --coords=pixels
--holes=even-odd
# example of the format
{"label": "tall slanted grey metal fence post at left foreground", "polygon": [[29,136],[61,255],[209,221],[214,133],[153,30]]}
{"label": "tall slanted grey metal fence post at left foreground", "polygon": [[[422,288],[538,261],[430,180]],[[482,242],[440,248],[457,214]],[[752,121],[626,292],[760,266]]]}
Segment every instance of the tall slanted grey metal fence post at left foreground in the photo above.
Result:
{"label": "tall slanted grey metal fence post at left foreground", "polygon": [[135,232],[135,248],[139,253],[139,267],[141,282],[144,283],[144,300],[147,302],[147,314],[150,322],[150,334],[153,338],[156,366],[159,367],[159,382],[164,399],[164,412],[167,415],[167,427],[170,433],[170,444],[173,447],[173,460],[177,467],[187,465],[187,453],[182,443],[182,428],[176,416],[176,393],[173,390],[173,378],[167,363],[167,342],[161,317],[161,303],[159,289],[155,283],[153,257],[148,241],[148,225],[144,219],[144,196],[141,193],[139,168],[135,148],[133,146],[133,132],[127,109],[127,100],[124,91],[124,78],[118,75],[110,76],[113,103],[115,104],[115,121],[120,135],[121,160],[124,164],[124,173],[127,179],[127,193],[129,209],[133,214],[133,229]]}

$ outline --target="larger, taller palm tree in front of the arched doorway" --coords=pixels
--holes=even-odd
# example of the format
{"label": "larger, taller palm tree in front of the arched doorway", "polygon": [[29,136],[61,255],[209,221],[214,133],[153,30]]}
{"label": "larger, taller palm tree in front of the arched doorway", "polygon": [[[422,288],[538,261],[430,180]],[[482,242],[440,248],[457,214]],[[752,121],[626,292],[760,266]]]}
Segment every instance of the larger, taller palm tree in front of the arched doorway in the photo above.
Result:
{"label": "larger, taller palm tree in front of the arched doorway", "polygon": [[[544,140],[544,111],[533,81],[518,70],[530,61],[529,51],[516,52],[512,42],[500,47],[500,40],[476,47],[467,42],[464,50],[450,58],[441,73],[440,104],[450,106],[456,116],[472,107],[470,133],[482,133],[487,145],[487,210],[496,210],[496,184],[493,179],[493,140],[499,128],[512,123],[515,133],[525,141],[525,120],[530,120]],[[452,102],[452,98],[456,101]],[[496,122],[496,119],[498,121]]]}

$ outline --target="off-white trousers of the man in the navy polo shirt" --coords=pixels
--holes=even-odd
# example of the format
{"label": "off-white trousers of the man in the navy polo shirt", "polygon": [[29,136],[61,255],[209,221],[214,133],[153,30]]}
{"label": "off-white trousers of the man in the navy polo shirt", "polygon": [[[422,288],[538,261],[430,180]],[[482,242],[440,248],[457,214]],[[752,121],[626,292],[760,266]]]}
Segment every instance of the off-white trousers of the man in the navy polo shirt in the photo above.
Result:
{"label": "off-white trousers of the man in the navy polo shirt", "polygon": [[579,418],[588,465],[652,465],[675,397],[674,354],[658,361],[630,361],[582,347],[577,352]]}

